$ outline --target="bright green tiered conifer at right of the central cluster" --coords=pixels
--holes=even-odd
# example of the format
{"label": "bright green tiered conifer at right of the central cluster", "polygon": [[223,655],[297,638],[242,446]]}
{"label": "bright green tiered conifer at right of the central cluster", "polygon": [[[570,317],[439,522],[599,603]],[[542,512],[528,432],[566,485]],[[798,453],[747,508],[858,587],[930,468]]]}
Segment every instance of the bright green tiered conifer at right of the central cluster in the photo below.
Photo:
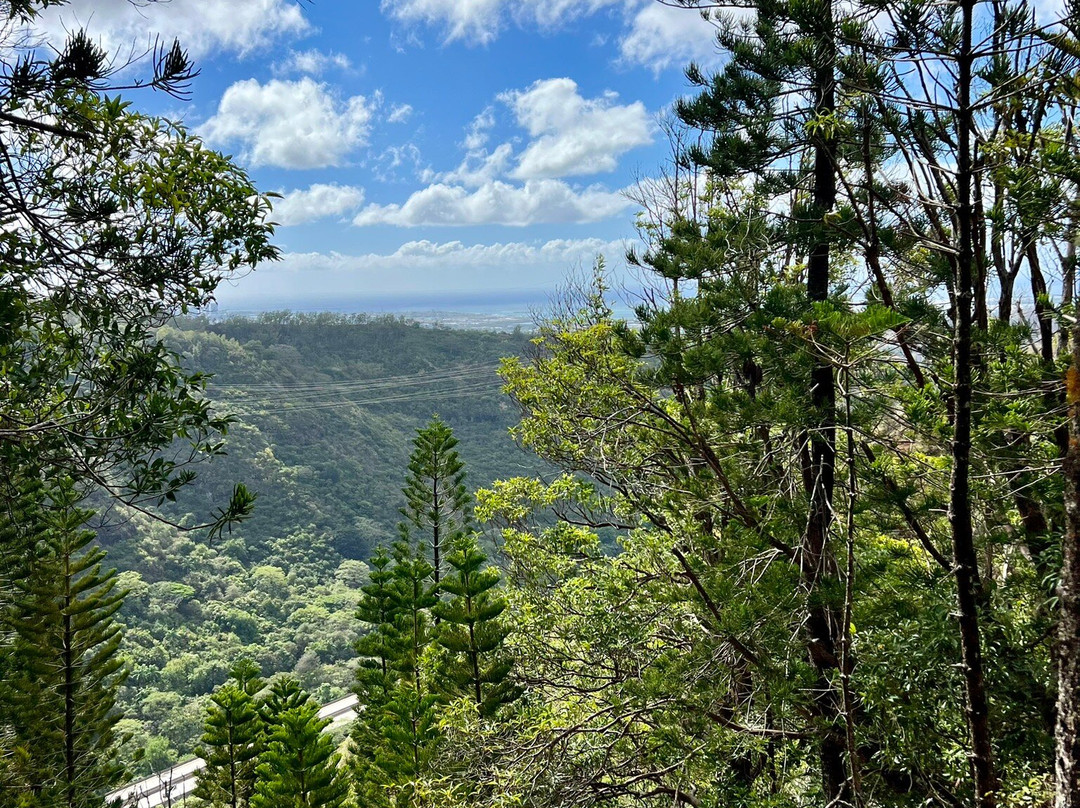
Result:
{"label": "bright green tiered conifer at right of the central cluster", "polygon": [[496,589],[499,570],[485,566],[487,556],[472,535],[456,543],[446,562],[454,571],[443,579],[443,590],[450,597],[432,610],[442,618],[438,643],[450,654],[444,668],[448,689],[467,693],[480,714],[490,717],[519,695],[509,678],[513,661],[502,649],[510,628],[499,620],[507,608]]}

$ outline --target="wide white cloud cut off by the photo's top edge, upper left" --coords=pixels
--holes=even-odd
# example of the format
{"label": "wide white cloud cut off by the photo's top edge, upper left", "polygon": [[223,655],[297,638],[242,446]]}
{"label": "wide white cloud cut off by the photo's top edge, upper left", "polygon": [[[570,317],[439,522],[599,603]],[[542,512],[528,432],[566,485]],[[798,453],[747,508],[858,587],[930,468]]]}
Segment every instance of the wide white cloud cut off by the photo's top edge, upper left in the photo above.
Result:
{"label": "wide white cloud cut off by the photo's top edge, upper left", "polygon": [[54,42],[85,27],[109,51],[146,46],[148,37],[177,38],[192,56],[227,50],[246,54],[285,37],[311,30],[294,0],[72,0],[48,10],[40,21]]}

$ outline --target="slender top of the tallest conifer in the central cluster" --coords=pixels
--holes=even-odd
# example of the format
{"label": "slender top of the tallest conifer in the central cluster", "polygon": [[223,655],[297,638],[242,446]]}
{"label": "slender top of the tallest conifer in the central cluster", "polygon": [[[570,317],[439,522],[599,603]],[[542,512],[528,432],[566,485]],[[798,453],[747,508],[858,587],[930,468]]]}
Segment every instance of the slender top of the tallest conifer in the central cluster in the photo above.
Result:
{"label": "slender top of the tallest conifer in the central cluster", "polygon": [[401,523],[406,541],[418,544],[431,558],[432,579],[442,580],[445,549],[469,529],[469,493],[458,439],[438,416],[417,430],[405,477],[405,508]]}

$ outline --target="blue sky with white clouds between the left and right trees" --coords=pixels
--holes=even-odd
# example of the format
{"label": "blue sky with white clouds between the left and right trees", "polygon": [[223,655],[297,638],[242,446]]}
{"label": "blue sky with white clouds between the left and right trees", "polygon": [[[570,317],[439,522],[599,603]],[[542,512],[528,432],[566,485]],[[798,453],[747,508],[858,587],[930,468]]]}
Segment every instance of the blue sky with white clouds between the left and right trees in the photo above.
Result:
{"label": "blue sky with white clouds between the left and right trees", "polygon": [[179,37],[191,100],[133,100],[284,194],[284,259],[227,308],[536,298],[620,265],[624,192],[669,156],[658,118],[716,59],[710,24],[658,0],[73,0],[48,25],[122,54]]}

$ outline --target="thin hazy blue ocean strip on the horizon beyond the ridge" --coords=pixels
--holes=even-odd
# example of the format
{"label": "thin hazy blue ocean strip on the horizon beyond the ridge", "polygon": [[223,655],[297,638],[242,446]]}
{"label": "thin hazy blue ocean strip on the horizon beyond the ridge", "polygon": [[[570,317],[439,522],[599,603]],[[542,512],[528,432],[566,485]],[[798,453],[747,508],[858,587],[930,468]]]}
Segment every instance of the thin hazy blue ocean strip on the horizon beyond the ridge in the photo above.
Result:
{"label": "thin hazy blue ocean strip on the horizon beyond the ridge", "polygon": [[[483,331],[530,331],[539,318],[554,307],[550,289],[515,289],[470,293],[399,293],[302,299],[254,298],[229,300],[205,313],[221,318],[257,315],[267,311],[320,312],[339,314],[399,314],[429,325]],[[632,318],[630,305],[615,301],[615,314]]]}

